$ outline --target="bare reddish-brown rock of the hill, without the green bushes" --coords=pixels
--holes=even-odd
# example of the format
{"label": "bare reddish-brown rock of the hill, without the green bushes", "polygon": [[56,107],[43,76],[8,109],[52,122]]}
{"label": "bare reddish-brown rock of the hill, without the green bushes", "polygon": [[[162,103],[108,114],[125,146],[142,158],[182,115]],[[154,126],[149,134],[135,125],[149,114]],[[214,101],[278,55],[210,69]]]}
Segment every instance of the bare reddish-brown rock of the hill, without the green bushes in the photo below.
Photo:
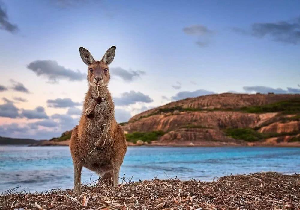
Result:
{"label": "bare reddish-brown rock of the hill, without the green bushes", "polygon": [[[153,141],[153,145],[251,146],[282,144],[284,146],[289,142],[287,139],[295,136],[286,137],[284,141],[281,140],[282,136],[269,138],[254,144],[226,136],[223,130],[226,128],[251,128],[260,133],[299,133],[300,121],[281,122],[283,118],[289,118],[291,115],[284,115],[280,112],[247,113],[238,109],[291,99],[300,99],[300,95],[226,93],[187,98],[135,115],[123,126],[123,129],[128,133],[164,131],[165,134],[157,141]],[[179,110],[184,111],[179,112]],[[293,144],[298,144],[298,142]]]}

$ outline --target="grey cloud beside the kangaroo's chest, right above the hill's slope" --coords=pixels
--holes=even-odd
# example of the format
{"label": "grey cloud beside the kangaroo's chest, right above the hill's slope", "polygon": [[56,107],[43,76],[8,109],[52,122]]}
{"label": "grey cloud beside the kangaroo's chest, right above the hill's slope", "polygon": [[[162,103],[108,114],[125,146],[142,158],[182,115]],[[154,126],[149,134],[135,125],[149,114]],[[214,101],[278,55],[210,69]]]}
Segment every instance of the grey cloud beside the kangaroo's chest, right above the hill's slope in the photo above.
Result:
{"label": "grey cloud beside the kangaroo's chest, right above the hill's slope", "polygon": [[131,90],[130,92],[122,93],[120,98],[114,98],[114,102],[117,106],[123,106],[135,104],[136,102],[150,103],[153,102],[153,99],[149,95]]}

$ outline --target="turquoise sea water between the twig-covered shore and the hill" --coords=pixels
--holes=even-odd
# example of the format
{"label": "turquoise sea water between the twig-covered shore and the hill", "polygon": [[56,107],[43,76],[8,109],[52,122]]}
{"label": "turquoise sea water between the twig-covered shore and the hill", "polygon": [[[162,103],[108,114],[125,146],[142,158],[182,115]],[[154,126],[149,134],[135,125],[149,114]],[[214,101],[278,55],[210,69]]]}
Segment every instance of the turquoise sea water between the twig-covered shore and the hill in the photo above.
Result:
{"label": "turquoise sea water between the twig-covered shore and the hill", "polygon": [[[300,148],[272,147],[128,147],[120,176],[139,179],[176,177],[211,181],[230,174],[300,172]],[[84,168],[82,182],[98,176]],[[120,179],[120,182],[122,180]],[[69,147],[0,146],[0,192],[73,188]]]}

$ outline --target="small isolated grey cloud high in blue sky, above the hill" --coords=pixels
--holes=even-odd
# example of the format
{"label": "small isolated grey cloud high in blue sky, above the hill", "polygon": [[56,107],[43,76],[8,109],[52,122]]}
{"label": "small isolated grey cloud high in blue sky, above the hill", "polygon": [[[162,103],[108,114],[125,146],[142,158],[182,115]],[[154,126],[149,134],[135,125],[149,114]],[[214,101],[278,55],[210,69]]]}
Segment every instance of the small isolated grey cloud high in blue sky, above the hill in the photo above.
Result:
{"label": "small isolated grey cloud high in blue sky, above the hill", "polygon": [[209,39],[214,34],[214,31],[208,29],[204,25],[191,25],[183,28],[183,31],[187,35],[196,36],[198,41],[196,41],[196,45],[199,47],[206,47],[209,44]]}

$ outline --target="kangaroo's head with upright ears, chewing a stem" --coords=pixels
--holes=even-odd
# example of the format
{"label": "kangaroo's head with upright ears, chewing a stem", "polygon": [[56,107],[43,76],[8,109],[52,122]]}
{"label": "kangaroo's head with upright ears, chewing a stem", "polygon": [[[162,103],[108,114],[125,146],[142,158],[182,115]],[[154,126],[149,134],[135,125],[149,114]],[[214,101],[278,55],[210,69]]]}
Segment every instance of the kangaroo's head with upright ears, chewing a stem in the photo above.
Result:
{"label": "kangaroo's head with upright ears, chewing a stem", "polygon": [[79,48],[82,61],[88,65],[88,83],[91,86],[106,86],[110,80],[108,65],[113,62],[116,46],[109,48],[101,61],[95,61],[91,53],[83,48]]}

